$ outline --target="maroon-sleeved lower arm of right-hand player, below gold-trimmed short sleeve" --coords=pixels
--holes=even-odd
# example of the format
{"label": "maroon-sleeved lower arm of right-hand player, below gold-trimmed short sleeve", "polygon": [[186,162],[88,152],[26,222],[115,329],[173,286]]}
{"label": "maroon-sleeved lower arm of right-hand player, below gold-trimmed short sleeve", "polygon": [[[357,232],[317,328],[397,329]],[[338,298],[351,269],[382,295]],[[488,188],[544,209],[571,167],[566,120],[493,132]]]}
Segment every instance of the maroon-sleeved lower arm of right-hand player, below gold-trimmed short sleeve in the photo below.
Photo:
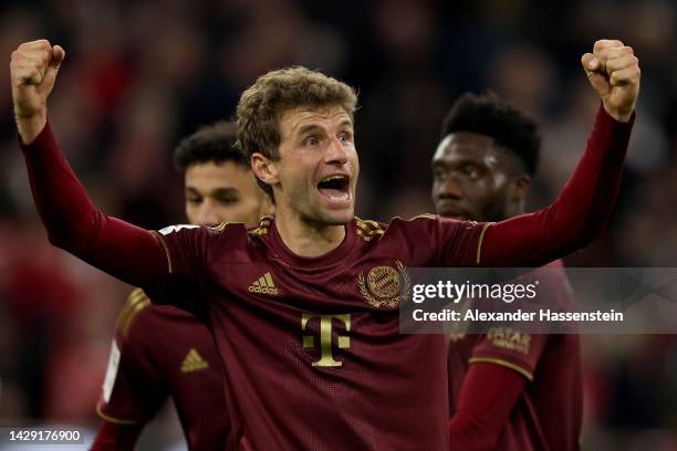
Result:
{"label": "maroon-sleeved lower arm of right-hand player, below gold-trimmed short sleeve", "polygon": [[512,369],[471,365],[449,421],[449,450],[493,450],[525,384]]}

